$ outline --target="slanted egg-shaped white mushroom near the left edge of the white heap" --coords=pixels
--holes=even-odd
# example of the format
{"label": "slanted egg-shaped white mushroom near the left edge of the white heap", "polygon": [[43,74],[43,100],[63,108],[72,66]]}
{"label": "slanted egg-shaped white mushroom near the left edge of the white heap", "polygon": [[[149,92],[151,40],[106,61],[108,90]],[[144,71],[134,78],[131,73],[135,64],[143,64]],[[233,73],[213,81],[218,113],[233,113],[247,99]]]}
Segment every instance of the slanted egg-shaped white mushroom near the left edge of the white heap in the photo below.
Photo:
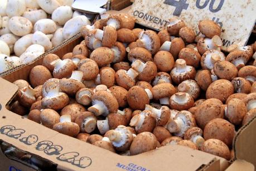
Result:
{"label": "slanted egg-shaped white mushroom near the left edge of the white heap", "polygon": [[14,52],[16,56],[21,56],[26,51],[28,46],[32,45],[32,34],[21,37],[14,46]]}

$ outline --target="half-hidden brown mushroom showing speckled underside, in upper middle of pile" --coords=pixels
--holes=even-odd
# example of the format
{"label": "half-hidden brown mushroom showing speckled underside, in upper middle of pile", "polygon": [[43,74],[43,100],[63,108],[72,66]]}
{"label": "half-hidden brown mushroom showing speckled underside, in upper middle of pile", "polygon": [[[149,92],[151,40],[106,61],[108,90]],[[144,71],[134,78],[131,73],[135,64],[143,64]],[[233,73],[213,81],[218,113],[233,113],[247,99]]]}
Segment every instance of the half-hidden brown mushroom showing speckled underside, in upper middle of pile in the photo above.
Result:
{"label": "half-hidden brown mushroom showing speckled underside, in upper middle of pile", "polygon": [[123,43],[115,42],[115,45],[111,47],[111,50],[114,51],[113,63],[121,62],[124,60],[126,52],[125,52],[125,46]]}

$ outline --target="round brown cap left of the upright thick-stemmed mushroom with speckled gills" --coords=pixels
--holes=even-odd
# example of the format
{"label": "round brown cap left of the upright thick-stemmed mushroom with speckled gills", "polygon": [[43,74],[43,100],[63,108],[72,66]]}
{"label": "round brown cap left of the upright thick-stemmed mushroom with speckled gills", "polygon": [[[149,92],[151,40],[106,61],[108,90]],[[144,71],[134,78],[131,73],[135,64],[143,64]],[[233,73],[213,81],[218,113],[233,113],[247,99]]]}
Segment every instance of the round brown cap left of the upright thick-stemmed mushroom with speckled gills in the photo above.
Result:
{"label": "round brown cap left of the upright thick-stemmed mushroom with speckled gills", "polygon": [[174,67],[174,59],[168,51],[158,51],[154,55],[154,63],[158,71],[170,72]]}

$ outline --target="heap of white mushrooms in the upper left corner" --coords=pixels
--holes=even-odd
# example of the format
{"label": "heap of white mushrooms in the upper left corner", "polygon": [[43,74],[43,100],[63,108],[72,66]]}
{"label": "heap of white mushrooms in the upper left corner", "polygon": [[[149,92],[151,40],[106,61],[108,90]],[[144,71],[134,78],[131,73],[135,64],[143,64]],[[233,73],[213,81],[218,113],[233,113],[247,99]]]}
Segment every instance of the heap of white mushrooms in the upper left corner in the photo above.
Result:
{"label": "heap of white mushrooms in the upper left corner", "polygon": [[1,0],[0,73],[29,63],[90,25],[73,0]]}

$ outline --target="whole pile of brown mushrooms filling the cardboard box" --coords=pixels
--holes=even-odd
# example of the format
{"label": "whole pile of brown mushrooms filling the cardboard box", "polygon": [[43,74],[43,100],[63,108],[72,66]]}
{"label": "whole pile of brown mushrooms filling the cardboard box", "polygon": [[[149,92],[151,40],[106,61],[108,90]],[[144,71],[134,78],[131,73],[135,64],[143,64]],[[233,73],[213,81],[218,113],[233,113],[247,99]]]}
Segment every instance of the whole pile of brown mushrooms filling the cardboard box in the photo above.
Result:
{"label": "whole pile of brown mushrooms filling the cardboard box", "polygon": [[73,52],[49,54],[11,110],[121,155],[183,145],[233,158],[236,130],[256,115],[256,43],[221,47],[220,27],[181,19],[134,28],[127,14],[83,26]]}

